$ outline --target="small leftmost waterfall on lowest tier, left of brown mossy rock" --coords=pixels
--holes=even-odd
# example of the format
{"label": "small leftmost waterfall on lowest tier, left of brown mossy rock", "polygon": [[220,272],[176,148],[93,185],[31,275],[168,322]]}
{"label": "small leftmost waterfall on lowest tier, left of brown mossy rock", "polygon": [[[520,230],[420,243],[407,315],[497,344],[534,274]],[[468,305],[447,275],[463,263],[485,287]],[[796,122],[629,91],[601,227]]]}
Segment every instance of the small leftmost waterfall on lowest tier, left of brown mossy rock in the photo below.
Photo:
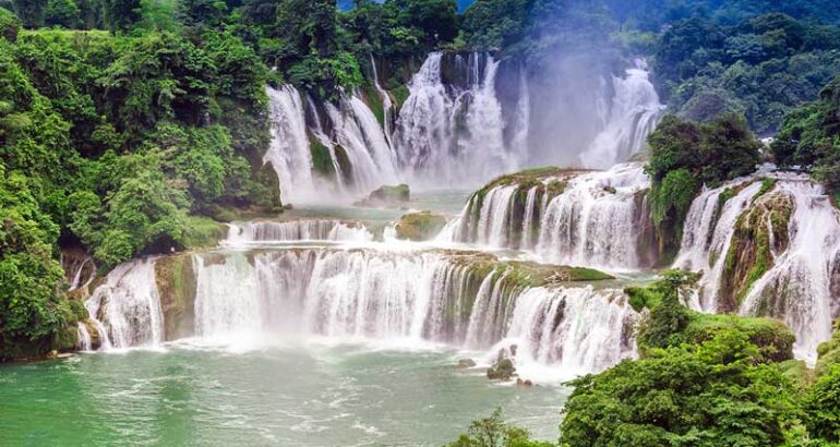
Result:
{"label": "small leftmost waterfall on lowest tier, left of brown mossy rock", "polygon": [[85,307],[106,348],[158,346],[164,341],[154,258],[115,267],[85,301]]}

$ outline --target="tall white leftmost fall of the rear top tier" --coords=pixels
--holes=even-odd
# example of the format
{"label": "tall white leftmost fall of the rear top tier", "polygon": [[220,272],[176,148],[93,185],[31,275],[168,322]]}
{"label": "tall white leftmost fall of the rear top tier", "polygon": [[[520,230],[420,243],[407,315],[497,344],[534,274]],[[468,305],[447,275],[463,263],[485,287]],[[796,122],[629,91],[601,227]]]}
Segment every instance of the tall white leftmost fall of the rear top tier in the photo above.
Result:
{"label": "tall white leftmost fall of the rear top tier", "polygon": [[272,120],[272,144],[265,153],[280,180],[284,202],[313,198],[312,154],[300,94],[291,85],[266,87]]}

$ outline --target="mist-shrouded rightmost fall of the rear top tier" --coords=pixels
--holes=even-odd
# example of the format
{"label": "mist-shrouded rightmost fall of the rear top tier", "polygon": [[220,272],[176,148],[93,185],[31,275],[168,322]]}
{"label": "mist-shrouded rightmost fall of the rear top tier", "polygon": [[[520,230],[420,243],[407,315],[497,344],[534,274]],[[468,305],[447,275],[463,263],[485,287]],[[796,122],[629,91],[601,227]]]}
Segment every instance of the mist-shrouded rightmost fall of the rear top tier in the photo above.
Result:
{"label": "mist-shrouded rightmost fall of the rear top tier", "polygon": [[[634,65],[626,70],[624,77],[613,77],[614,94],[604,128],[589,148],[580,154],[584,166],[608,168],[626,161],[641,148],[665,108],[659,102],[659,95],[648,77],[643,59],[634,60]],[[599,110],[603,110],[603,106]]]}

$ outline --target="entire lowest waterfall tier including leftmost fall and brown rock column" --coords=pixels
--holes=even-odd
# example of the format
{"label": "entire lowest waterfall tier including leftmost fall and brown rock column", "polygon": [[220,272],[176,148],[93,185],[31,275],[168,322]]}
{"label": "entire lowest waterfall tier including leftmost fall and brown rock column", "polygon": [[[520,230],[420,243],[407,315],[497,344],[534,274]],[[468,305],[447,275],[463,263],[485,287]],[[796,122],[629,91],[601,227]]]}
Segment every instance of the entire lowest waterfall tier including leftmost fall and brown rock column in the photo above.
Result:
{"label": "entire lowest waterfall tier including leftmost fall and brown rock column", "polygon": [[[164,326],[170,339],[195,335],[223,343],[316,335],[483,350],[505,340],[527,359],[574,373],[603,370],[635,352],[637,315],[626,297],[574,282],[598,277],[591,270],[500,264],[476,252],[326,247],[163,259],[168,264],[158,265],[157,276],[161,259],[121,265],[88,300],[113,346],[159,345]],[[180,292],[171,288],[176,277]],[[184,311],[192,317],[183,318]],[[172,327],[184,324],[190,327]]]}

